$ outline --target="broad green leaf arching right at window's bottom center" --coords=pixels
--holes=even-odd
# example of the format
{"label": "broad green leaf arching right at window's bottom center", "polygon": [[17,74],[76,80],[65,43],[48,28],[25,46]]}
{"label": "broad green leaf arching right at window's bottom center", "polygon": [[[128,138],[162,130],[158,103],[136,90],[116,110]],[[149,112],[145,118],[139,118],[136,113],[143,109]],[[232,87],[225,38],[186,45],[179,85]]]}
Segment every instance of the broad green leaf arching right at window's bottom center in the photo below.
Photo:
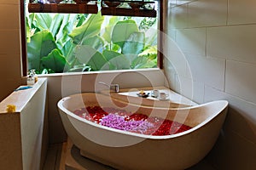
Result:
{"label": "broad green leaf arching right at window's bottom center", "polygon": [[90,65],[93,71],[108,70],[109,65],[107,59],[88,45],[82,45],[76,48],[76,58],[82,64]]}

